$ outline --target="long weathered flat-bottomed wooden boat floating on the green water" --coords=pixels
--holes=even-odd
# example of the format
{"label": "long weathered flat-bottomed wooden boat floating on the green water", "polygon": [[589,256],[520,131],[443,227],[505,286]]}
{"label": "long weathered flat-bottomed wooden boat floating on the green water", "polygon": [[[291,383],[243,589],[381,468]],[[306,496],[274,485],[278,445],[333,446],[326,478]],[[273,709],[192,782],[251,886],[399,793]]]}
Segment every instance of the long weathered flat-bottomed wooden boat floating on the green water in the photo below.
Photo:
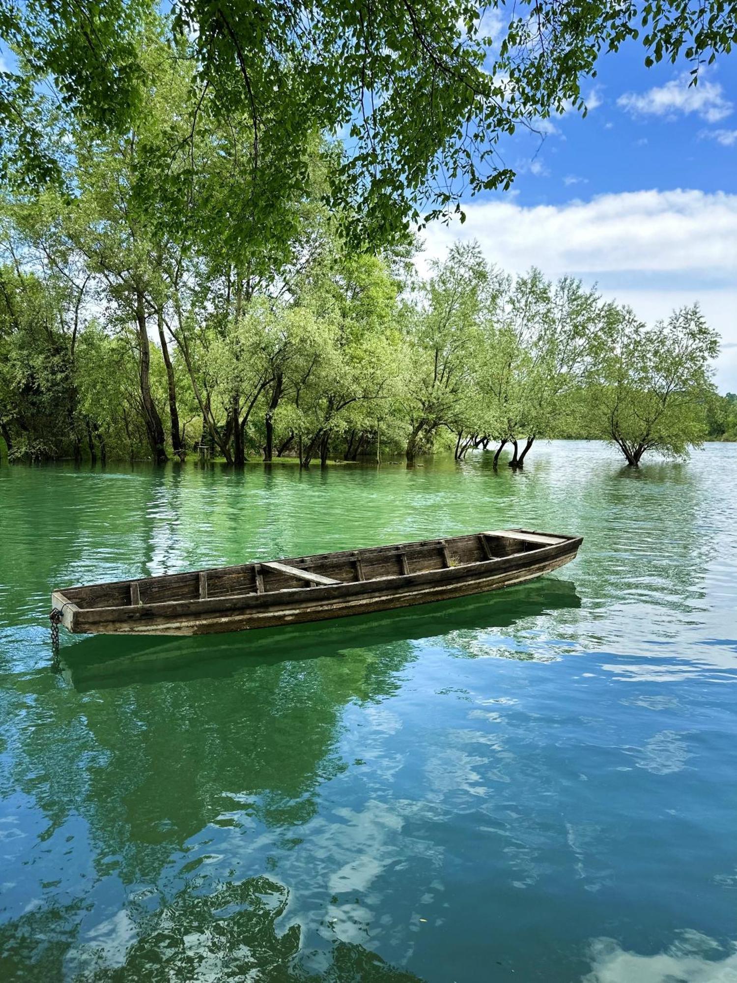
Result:
{"label": "long weathered flat-bottomed wooden boat floating on the green water", "polygon": [[52,621],[80,634],[203,635],[482,594],[549,573],[581,537],[527,529],[318,553],[54,591]]}

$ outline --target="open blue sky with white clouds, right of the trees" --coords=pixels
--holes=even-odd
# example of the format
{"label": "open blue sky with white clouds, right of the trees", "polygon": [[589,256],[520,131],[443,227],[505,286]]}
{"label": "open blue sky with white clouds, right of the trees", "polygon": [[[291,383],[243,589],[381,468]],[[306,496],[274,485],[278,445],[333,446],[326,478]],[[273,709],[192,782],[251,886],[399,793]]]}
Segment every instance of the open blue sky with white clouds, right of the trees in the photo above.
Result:
{"label": "open blue sky with white clouds, right of the trees", "polygon": [[[646,69],[631,44],[584,87],[590,111],[552,120],[540,144],[503,145],[512,194],[466,202],[463,226],[425,231],[425,257],[477,238],[510,271],[579,275],[646,321],[699,301],[722,336],[720,391],[737,392],[737,56],[703,70]],[[422,266],[421,261],[421,266]]]}

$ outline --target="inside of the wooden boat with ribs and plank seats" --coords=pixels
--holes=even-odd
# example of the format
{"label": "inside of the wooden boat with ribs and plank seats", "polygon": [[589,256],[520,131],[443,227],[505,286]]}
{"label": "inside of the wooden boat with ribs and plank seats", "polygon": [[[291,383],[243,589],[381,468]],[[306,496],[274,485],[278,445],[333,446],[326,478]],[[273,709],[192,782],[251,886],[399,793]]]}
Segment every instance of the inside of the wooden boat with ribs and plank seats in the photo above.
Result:
{"label": "inside of the wooden boat with ribs and plank seats", "polygon": [[498,530],[446,540],[255,561],[192,573],[73,587],[63,594],[68,602],[85,609],[270,594],[465,566],[554,546],[567,539],[528,530]]}

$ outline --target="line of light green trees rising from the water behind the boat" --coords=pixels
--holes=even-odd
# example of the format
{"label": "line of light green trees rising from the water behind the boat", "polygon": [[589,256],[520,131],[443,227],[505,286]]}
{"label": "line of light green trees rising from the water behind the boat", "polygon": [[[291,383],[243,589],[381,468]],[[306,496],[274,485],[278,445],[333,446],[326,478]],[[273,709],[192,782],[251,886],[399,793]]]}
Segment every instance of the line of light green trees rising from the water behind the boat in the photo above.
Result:
{"label": "line of light green trees rising from the water behind the boat", "polygon": [[63,181],[16,176],[0,198],[9,457],[163,462],[204,444],[307,467],[380,444],[410,462],[509,447],[522,467],[538,437],[582,435],[637,466],[734,429],[697,307],[647,327],[473,244],[425,279],[408,231],[359,248],[358,216],[325,203],[340,148],[315,135],[299,174],[275,174],[250,113],[216,104],[152,24],[145,111],[123,135],[34,90]]}

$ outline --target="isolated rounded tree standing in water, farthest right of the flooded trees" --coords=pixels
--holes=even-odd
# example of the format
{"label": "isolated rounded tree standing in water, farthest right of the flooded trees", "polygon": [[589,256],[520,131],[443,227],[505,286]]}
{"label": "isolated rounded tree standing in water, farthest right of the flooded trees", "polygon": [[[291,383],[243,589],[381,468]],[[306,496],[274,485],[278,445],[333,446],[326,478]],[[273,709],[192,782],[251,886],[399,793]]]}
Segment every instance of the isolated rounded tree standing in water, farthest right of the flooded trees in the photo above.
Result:
{"label": "isolated rounded tree standing in water, farthest right of the flooded trees", "polygon": [[707,435],[709,361],[718,352],[718,335],[699,307],[652,328],[610,308],[598,345],[586,391],[596,434],[616,444],[629,467],[651,451],[688,457]]}

